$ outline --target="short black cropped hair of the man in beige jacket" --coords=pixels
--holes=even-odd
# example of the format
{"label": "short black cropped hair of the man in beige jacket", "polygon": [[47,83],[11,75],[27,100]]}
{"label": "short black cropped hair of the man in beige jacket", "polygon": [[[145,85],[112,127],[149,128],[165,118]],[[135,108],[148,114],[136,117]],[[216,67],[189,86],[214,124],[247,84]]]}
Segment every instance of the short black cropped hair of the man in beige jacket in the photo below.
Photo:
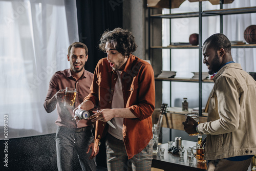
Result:
{"label": "short black cropped hair of the man in beige jacket", "polygon": [[215,52],[221,48],[223,48],[227,53],[231,52],[231,42],[224,34],[213,34],[204,41],[204,44],[206,43],[209,43],[210,47],[214,49]]}

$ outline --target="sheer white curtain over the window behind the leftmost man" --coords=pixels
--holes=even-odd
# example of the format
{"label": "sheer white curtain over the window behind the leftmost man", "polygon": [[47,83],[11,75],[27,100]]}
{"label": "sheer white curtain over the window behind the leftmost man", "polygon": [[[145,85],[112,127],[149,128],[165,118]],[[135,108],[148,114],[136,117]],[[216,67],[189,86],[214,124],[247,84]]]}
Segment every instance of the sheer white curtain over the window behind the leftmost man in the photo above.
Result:
{"label": "sheer white curtain over the window behind the leftmost man", "polygon": [[0,139],[55,133],[56,110],[43,104],[79,39],[76,1],[0,0],[0,33]]}

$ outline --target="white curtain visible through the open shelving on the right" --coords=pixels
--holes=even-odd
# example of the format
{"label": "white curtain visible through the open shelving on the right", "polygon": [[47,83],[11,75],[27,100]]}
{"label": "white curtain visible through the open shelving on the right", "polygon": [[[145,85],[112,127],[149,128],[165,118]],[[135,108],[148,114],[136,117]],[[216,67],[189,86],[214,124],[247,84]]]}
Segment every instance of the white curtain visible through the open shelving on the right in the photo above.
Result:
{"label": "white curtain visible through the open shelving on the right", "polygon": [[[256,6],[255,0],[239,1],[234,0],[232,4],[224,4],[223,9],[242,8]],[[202,10],[220,9],[219,5],[212,5],[208,1],[202,2]],[[185,1],[179,8],[172,9],[172,13],[197,12],[199,10],[198,2],[189,3]],[[169,9],[164,9],[163,14],[169,13]],[[230,40],[242,40],[244,30],[249,25],[256,24],[256,14],[236,14],[223,16],[223,33]],[[169,39],[169,19],[163,19],[163,36],[162,46],[168,46],[170,42],[188,42],[189,35],[199,33],[198,17],[171,19],[171,37]],[[220,33],[220,17],[210,16],[203,17],[202,21],[202,41],[212,34]],[[176,71],[176,77],[191,78],[193,73],[199,71],[199,51],[198,49],[172,49],[171,59],[170,51],[167,49],[163,52],[163,70]],[[256,49],[232,49],[232,56],[235,62],[241,63],[243,70],[247,72],[256,72]],[[172,63],[170,65],[170,62]],[[202,63],[202,71],[208,72],[207,67]],[[172,90],[170,90],[172,85]],[[209,93],[213,83],[202,84],[202,106],[206,105]],[[163,81],[163,103],[171,106],[181,106],[183,97],[188,98],[188,107],[196,108],[199,105],[199,86],[198,83],[187,82],[169,82]],[[171,92],[170,92],[171,91]],[[170,96],[171,94],[171,96]],[[170,97],[172,100],[170,100]]]}

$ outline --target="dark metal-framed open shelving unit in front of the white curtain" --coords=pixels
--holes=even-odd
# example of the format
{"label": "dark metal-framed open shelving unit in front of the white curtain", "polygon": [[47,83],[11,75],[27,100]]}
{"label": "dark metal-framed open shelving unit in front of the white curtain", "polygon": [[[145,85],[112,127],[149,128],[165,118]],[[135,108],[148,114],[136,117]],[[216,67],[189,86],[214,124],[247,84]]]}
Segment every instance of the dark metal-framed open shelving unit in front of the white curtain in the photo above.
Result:
{"label": "dark metal-framed open shelving unit in front of the white curtain", "polygon": [[[198,12],[172,13],[172,14],[154,14],[151,15],[148,8],[148,59],[151,59],[151,51],[155,49],[198,49],[199,50],[199,79],[188,78],[155,78],[156,81],[178,81],[178,82],[198,82],[199,83],[199,114],[202,116],[202,83],[212,83],[212,80],[202,80],[202,17],[220,16],[220,32],[223,32],[223,15],[256,13],[256,7],[223,9],[223,0],[220,0],[219,10],[202,11],[202,2],[199,2]],[[151,18],[189,18],[199,17],[199,46],[151,46]],[[232,48],[256,48],[256,45],[232,45]]]}

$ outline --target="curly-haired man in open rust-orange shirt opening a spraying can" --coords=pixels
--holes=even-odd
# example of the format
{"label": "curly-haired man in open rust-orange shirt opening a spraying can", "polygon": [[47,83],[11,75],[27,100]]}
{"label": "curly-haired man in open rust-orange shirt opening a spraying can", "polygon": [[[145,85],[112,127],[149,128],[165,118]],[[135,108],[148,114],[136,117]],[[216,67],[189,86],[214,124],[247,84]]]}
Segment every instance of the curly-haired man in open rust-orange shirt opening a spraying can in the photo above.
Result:
{"label": "curly-haired man in open rust-orange shirt opening a spraying can", "polygon": [[100,41],[99,47],[108,57],[99,60],[91,93],[78,106],[83,110],[98,108],[90,117],[96,121],[94,150],[106,134],[108,170],[151,170],[153,68],[132,54],[137,45],[130,31],[106,31]]}

